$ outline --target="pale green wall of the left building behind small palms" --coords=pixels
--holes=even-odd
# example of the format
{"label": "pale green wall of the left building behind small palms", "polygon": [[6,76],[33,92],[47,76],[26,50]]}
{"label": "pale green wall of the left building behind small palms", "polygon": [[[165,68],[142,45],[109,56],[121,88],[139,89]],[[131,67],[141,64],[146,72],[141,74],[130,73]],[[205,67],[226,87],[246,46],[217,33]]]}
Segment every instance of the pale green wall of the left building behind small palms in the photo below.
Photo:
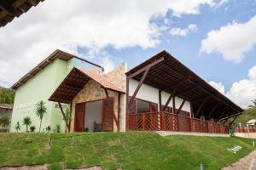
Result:
{"label": "pale green wall of the left building behind small palms", "polygon": [[20,122],[22,132],[26,131],[26,126],[23,125],[22,121],[25,116],[32,118],[32,126],[35,126],[36,131],[38,131],[40,120],[33,110],[34,105],[41,99],[47,105],[47,113],[43,118],[41,129],[50,126],[53,130],[55,125],[59,123],[61,124],[61,131],[65,130],[60,109],[55,107],[55,102],[50,102],[48,99],[72,68],[73,59],[68,61],[55,59],[16,90],[11,132],[15,132],[16,122]]}

